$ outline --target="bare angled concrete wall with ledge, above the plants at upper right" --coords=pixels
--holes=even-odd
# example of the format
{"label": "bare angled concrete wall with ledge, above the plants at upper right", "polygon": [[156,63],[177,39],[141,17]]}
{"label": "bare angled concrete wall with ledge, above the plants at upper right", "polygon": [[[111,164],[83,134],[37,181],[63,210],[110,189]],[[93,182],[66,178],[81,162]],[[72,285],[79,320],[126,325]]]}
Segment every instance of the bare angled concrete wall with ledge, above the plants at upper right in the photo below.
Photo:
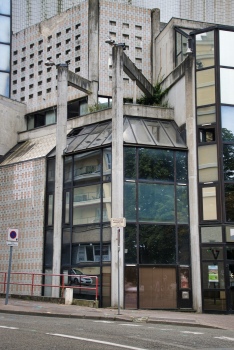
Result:
{"label": "bare angled concrete wall with ledge, above the plants at upper right", "polygon": [[212,26],[210,23],[172,18],[156,38],[156,80],[165,78],[175,68],[175,27],[203,29]]}

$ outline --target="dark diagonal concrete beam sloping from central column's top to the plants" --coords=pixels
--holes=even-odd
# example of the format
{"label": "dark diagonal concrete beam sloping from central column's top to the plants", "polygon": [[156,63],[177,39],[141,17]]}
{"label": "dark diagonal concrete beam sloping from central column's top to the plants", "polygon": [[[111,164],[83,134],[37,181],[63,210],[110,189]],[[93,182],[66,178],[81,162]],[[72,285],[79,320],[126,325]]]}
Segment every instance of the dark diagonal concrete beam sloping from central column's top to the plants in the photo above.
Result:
{"label": "dark diagonal concrete beam sloping from central column's top to the plants", "polygon": [[154,88],[146,77],[139,71],[135,64],[123,53],[123,70],[129,78],[136,80],[136,85],[144,92],[148,97],[152,97],[154,94]]}

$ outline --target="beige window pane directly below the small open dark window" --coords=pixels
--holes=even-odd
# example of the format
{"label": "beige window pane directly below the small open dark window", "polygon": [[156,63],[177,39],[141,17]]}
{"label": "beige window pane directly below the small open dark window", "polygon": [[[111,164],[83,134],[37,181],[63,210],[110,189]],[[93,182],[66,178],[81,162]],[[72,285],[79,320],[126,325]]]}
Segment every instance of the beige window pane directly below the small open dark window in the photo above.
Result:
{"label": "beige window pane directly below the small open dark window", "polygon": [[217,145],[198,147],[199,182],[217,181]]}

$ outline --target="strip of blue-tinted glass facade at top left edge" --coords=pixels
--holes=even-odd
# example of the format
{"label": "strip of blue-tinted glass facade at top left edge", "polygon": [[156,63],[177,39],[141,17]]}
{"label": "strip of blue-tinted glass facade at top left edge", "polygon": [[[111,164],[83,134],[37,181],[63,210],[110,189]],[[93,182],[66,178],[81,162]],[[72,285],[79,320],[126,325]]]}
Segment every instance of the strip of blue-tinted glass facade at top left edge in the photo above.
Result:
{"label": "strip of blue-tinted glass facade at top left edge", "polygon": [[10,97],[11,0],[0,2],[0,95]]}

